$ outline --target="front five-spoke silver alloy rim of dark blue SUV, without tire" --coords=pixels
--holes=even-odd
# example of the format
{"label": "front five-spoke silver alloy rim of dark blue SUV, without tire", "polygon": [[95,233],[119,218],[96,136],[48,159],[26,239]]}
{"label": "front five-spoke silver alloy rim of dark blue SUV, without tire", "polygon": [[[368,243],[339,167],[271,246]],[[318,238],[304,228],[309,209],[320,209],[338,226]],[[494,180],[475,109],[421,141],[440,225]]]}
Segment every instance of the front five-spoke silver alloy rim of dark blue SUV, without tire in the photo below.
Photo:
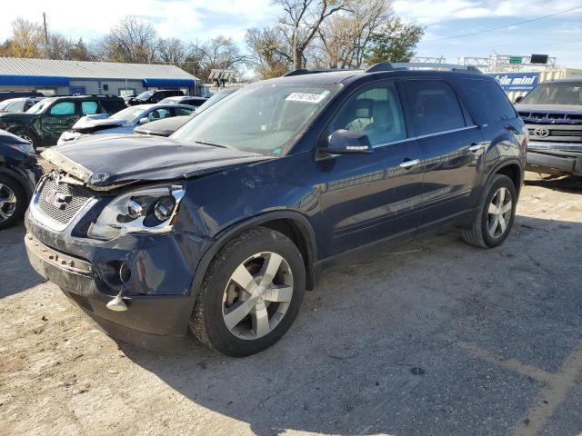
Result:
{"label": "front five-spoke silver alloy rim of dark blue SUV, without tire", "polygon": [[223,318],[236,337],[261,338],[283,320],[293,298],[293,273],[283,256],[256,253],[226,283]]}

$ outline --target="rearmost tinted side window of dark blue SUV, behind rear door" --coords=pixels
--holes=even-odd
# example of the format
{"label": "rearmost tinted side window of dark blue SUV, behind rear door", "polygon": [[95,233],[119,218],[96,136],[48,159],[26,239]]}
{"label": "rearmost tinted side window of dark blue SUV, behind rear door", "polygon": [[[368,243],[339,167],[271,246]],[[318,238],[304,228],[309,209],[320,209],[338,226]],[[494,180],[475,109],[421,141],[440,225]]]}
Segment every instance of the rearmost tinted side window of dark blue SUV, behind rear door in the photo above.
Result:
{"label": "rearmost tinted side window of dark blue SUV, behind rear door", "polygon": [[493,80],[463,79],[463,96],[479,124],[516,118],[513,104]]}

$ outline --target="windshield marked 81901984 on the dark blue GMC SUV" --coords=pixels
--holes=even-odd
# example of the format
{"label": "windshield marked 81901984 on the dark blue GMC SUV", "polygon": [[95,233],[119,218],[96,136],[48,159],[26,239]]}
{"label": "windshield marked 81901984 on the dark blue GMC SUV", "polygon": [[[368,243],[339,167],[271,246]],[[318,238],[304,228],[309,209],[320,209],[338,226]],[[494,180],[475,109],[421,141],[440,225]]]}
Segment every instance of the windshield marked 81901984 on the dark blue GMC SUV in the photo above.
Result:
{"label": "windshield marked 81901984 on the dark blue GMC SUV", "polygon": [[171,137],[283,155],[339,88],[326,84],[249,86],[200,112]]}

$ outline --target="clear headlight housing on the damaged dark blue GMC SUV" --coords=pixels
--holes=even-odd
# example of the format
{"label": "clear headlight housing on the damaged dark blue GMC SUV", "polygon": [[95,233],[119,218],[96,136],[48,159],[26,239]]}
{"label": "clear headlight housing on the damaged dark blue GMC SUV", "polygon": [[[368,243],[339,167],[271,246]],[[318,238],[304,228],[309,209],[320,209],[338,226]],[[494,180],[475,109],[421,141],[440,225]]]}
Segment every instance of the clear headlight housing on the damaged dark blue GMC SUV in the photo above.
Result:
{"label": "clear headlight housing on the damaged dark blue GMC SUV", "polygon": [[184,187],[180,184],[122,193],[91,223],[87,236],[110,240],[125,233],[167,233],[172,230],[182,197]]}

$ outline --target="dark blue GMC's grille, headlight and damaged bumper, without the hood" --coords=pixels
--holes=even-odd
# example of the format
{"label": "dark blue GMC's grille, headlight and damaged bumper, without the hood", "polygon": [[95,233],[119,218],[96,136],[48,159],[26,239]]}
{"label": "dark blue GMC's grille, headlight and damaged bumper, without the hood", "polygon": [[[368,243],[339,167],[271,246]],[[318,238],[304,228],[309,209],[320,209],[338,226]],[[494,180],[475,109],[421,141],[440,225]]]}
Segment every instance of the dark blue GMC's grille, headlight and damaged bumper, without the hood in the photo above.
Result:
{"label": "dark blue GMC's grille, headlight and damaged bumper, without the hood", "polygon": [[74,182],[50,173],[36,188],[25,217],[35,270],[115,337],[154,349],[181,342],[208,246],[176,224],[183,186],[98,192]]}

